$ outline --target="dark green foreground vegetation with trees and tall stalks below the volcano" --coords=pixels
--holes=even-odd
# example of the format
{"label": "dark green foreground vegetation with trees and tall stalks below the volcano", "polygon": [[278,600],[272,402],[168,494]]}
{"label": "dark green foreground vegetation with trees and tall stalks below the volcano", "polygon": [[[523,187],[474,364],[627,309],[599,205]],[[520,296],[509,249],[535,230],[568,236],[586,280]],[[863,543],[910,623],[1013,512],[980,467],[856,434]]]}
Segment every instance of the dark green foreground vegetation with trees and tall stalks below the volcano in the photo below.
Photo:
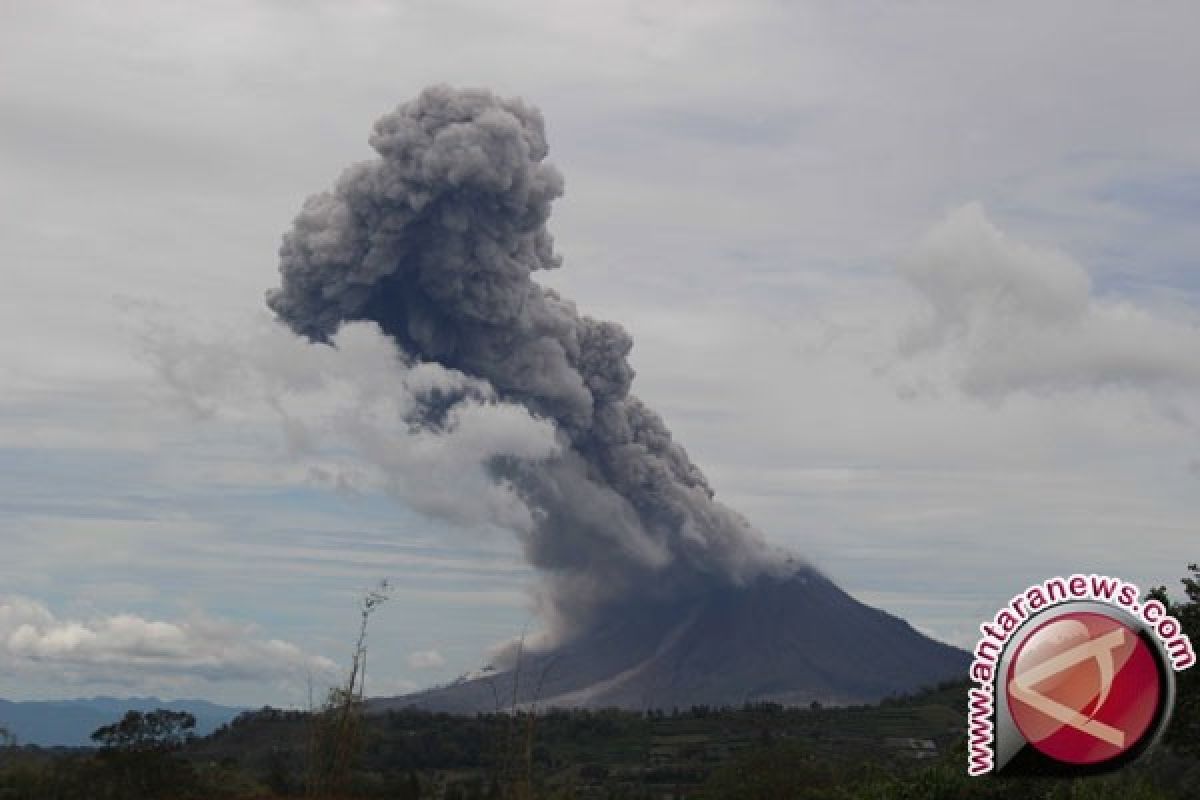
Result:
{"label": "dark green foreground vegetation with trees and tall stalks below the volcano", "polygon": [[[1170,608],[1200,640],[1200,571],[1189,570],[1186,600]],[[1152,594],[1166,600],[1165,589]],[[360,666],[319,710],[247,712],[204,739],[191,738],[190,715],[170,711],[131,711],[96,732],[95,750],[0,738],[0,800],[1200,796],[1200,670],[1180,675],[1171,728],[1148,758],[1099,778],[1031,781],[966,776],[965,684],[839,709],[364,716]]]}

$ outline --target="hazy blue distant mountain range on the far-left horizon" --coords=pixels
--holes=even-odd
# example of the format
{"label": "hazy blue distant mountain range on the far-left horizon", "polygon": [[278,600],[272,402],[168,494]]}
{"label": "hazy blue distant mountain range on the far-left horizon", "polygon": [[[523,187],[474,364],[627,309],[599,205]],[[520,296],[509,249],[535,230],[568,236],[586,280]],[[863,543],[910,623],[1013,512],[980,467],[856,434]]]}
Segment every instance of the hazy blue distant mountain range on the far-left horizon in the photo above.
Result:
{"label": "hazy blue distant mountain range on the far-left horizon", "polygon": [[168,709],[196,716],[196,733],[211,733],[245,709],[208,700],[160,700],[156,697],[91,697],[73,700],[12,702],[0,699],[0,726],[22,745],[91,746],[91,732],[116,722],[126,711]]}

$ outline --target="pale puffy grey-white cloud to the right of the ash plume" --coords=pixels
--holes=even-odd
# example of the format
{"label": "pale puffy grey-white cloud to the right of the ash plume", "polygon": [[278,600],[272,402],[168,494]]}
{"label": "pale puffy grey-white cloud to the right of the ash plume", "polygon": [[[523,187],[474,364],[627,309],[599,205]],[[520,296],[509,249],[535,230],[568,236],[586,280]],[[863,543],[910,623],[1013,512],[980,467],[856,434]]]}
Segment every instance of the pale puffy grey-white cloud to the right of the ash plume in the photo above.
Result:
{"label": "pale puffy grey-white cloud to the right of the ash plume", "polygon": [[978,204],[935,225],[901,275],[929,312],[901,349],[949,353],[972,395],[1200,384],[1194,319],[1098,296],[1075,260],[1010,239]]}

